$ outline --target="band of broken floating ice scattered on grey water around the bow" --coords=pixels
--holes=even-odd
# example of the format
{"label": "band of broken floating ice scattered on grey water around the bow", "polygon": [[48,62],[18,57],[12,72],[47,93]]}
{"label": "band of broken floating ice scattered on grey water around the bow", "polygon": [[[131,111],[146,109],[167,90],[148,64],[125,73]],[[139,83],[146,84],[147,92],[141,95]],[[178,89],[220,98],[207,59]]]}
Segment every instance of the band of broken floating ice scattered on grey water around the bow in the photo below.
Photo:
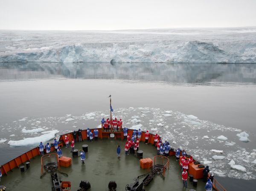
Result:
{"label": "band of broken floating ice scattered on grey water around the bow", "polygon": [[[47,143],[54,137],[58,138],[60,134],[77,131],[78,128],[99,127],[102,117],[108,118],[109,111],[94,111],[81,116],[67,114],[64,117],[38,119],[25,117],[23,118],[25,120],[17,120],[1,126],[0,144],[35,146],[41,140]],[[238,132],[241,133],[239,135],[248,135],[252,141],[255,140],[254,134],[200,120],[194,115],[160,108],[117,108],[113,112],[113,117],[121,118],[127,128],[140,128],[142,131],[149,130],[151,133],[160,134],[162,140],[169,141],[172,148],[185,149],[196,160],[209,165],[215,175],[246,180],[256,179],[256,149],[248,149],[246,144],[250,142],[241,142],[236,135]],[[42,129],[44,131],[41,131]],[[13,131],[16,135],[9,137]],[[8,132],[4,134],[5,137],[3,132]],[[218,139],[220,136],[226,137],[227,140]]]}

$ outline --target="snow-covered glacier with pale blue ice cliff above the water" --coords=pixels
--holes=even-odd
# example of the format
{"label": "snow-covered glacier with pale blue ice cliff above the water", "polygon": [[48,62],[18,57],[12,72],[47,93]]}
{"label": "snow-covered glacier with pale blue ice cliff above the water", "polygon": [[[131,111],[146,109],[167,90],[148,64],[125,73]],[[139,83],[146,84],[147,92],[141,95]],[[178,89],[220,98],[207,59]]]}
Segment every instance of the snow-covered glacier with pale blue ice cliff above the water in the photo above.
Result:
{"label": "snow-covered glacier with pale blue ice cliff above the water", "polygon": [[256,63],[256,27],[0,31],[0,42],[0,62]]}

